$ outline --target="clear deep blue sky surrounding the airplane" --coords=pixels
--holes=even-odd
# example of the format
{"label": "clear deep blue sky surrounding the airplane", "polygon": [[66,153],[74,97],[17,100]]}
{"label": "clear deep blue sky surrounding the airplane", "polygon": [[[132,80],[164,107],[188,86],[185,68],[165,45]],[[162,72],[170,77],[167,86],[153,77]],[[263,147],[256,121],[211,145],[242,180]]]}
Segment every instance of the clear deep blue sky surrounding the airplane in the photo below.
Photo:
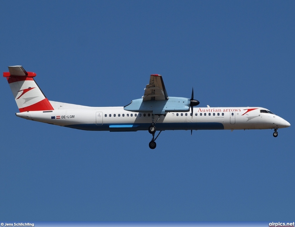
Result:
{"label": "clear deep blue sky surrounding the airplane", "polygon": [[[294,1],[1,1],[0,67],[37,73],[49,100],[125,106],[150,74],[199,106],[261,106],[272,130],[79,131],[15,116],[1,83],[0,218],[294,218]],[[294,221],[294,220],[293,220]]]}

